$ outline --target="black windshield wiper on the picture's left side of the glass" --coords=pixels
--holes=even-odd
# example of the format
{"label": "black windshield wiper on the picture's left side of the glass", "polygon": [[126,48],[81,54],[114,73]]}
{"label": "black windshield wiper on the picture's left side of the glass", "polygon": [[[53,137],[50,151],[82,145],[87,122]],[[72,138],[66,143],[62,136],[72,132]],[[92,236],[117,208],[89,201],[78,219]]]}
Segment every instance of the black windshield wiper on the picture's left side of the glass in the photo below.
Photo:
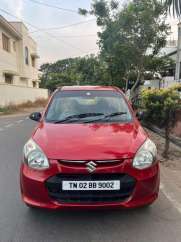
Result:
{"label": "black windshield wiper on the picture's left side of the glass", "polygon": [[75,114],[75,115],[68,116],[61,120],[52,120],[51,122],[53,122],[55,124],[65,123],[68,121],[74,122],[74,121],[78,121],[80,119],[84,119],[84,118],[88,118],[88,117],[102,116],[102,115],[104,115],[104,114],[103,113],[81,113],[81,114]]}

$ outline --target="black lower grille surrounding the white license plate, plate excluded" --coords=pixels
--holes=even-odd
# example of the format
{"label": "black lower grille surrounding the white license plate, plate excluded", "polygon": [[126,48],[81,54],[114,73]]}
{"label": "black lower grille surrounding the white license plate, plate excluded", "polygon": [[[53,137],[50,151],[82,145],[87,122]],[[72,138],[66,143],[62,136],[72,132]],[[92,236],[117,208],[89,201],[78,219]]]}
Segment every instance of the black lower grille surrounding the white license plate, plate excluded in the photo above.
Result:
{"label": "black lower grille surrounding the white license plate, plate excluded", "polygon": [[[63,191],[63,180],[98,181],[120,180],[120,190],[116,191]],[[121,202],[133,193],[136,180],[127,174],[89,174],[64,175],[58,174],[46,181],[49,196],[60,203],[101,203]]]}

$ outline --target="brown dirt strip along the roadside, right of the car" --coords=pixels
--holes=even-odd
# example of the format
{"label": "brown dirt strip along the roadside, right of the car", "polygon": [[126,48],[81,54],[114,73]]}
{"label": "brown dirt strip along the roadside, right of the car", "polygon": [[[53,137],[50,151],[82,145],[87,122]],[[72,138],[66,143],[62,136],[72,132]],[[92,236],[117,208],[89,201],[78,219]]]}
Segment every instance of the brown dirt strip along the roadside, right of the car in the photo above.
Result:
{"label": "brown dirt strip along the roadside, right of the car", "polygon": [[169,159],[163,158],[162,153],[164,151],[165,139],[160,135],[146,129],[150,138],[155,142],[158,149],[158,159],[163,166],[169,167],[172,170],[181,170],[181,147],[170,142]]}

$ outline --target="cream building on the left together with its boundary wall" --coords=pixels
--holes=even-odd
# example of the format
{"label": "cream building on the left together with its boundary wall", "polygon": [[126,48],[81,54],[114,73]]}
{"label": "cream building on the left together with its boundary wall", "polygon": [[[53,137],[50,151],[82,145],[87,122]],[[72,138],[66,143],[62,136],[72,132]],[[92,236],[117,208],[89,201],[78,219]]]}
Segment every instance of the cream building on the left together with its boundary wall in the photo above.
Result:
{"label": "cream building on the left together with its boundary wall", "polygon": [[48,98],[39,88],[38,58],[26,26],[0,15],[0,107]]}

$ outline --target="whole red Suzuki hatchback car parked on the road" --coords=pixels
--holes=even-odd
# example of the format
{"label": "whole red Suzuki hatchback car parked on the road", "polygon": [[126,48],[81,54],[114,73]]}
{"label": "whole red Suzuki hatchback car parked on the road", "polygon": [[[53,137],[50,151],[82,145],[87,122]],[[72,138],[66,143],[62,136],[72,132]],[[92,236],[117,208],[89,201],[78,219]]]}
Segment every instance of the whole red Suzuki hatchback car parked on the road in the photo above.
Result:
{"label": "whole red Suzuki hatchback car parked on the road", "polygon": [[21,193],[31,207],[134,208],[159,192],[155,144],[116,87],[62,87],[25,144]]}

